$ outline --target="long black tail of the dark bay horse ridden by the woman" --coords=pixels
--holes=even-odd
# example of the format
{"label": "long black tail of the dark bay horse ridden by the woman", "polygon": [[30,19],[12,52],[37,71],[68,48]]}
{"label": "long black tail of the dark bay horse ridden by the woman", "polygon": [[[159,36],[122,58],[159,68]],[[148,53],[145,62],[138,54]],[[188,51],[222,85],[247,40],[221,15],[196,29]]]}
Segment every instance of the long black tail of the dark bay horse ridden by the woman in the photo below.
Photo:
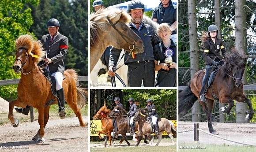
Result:
{"label": "long black tail of the dark bay horse ridden by the woman", "polygon": [[179,93],[179,114],[185,114],[192,108],[196,100],[198,100],[198,98],[192,93],[189,82],[188,86]]}

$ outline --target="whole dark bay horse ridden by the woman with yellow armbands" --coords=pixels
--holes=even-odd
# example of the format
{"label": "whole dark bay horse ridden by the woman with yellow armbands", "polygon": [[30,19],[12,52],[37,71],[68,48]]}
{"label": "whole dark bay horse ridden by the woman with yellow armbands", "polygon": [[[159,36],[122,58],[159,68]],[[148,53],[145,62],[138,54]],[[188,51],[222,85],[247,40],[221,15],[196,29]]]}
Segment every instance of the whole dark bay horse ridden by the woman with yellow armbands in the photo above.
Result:
{"label": "whole dark bay horse ridden by the woman with yellow armbands", "polygon": [[[219,100],[220,103],[229,104],[229,107],[222,107],[222,112],[230,113],[231,108],[234,106],[233,100],[237,102],[247,103],[250,113],[246,116],[246,122],[252,119],[254,114],[252,108],[252,102],[243,93],[242,76],[246,67],[246,60],[248,56],[245,56],[242,50],[233,48],[232,54],[230,54],[226,62],[222,66],[218,66],[218,73],[216,74],[215,80],[207,90],[206,102],[200,101],[203,106],[203,111],[207,115],[208,128],[210,133],[216,133],[213,129],[212,124],[216,125],[216,120],[211,114],[214,106],[214,100]],[[202,87],[202,79],[204,71],[198,71],[191,79],[188,87],[179,93],[179,114],[185,114],[196,100],[200,99],[200,90]],[[212,96],[214,94],[216,99]]]}

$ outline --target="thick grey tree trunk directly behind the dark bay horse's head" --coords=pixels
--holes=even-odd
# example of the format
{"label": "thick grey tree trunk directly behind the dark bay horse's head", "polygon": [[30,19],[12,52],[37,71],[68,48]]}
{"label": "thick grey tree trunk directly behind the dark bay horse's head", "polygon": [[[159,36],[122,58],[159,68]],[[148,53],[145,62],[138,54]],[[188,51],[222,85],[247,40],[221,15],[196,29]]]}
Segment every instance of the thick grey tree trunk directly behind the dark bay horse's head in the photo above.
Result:
{"label": "thick grey tree trunk directly behind the dark bay horse's head", "polygon": [[[245,12],[246,0],[235,0],[235,47],[237,49],[246,51],[246,12]],[[246,82],[247,70],[245,69],[243,75],[243,82]],[[245,103],[236,103],[236,122],[245,123],[246,111],[248,110],[247,104]]]}

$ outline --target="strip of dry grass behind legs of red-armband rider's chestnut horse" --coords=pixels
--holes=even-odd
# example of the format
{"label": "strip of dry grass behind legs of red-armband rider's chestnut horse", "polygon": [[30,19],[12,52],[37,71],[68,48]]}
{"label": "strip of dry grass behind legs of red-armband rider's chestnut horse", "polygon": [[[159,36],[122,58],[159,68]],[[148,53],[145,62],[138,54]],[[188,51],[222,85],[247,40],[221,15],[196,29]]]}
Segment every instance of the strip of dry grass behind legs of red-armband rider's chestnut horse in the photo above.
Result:
{"label": "strip of dry grass behind legs of red-armband rider's chestnut horse", "polygon": [[[59,106],[58,104],[53,104],[50,107],[49,111],[49,119],[53,119],[54,117],[60,117],[58,112]],[[69,107],[68,104],[65,104],[66,117],[76,117],[74,111]],[[82,109],[80,109],[83,116],[88,116],[88,104],[85,105]],[[28,115],[23,115],[18,112],[14,112],[14,117],[19,120],[19,122],[27,122],[30,121],[30,113]],[[34,108],[34,120],[38,119],[38,110]],[[10,124],[10,120],[8,119],[8,113],[0,113],[0,125]]]}

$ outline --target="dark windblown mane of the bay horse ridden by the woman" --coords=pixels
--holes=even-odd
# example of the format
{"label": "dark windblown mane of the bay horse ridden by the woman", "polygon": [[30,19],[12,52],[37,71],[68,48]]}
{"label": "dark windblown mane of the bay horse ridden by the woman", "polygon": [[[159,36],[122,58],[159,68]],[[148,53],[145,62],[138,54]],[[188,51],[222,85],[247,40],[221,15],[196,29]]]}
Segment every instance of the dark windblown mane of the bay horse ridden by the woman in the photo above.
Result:
{"label": "dark windblown mane of the bay horse ridden by the woman", "polygon": [[231,54],[226,57],[226,62],[221,66],[221,76],[225,78],[227,73],[233,70],[234,66],[238,66],[239,68],[245,68],[247,56],[245,56],[242,50],[237,48],[231,49]]}

